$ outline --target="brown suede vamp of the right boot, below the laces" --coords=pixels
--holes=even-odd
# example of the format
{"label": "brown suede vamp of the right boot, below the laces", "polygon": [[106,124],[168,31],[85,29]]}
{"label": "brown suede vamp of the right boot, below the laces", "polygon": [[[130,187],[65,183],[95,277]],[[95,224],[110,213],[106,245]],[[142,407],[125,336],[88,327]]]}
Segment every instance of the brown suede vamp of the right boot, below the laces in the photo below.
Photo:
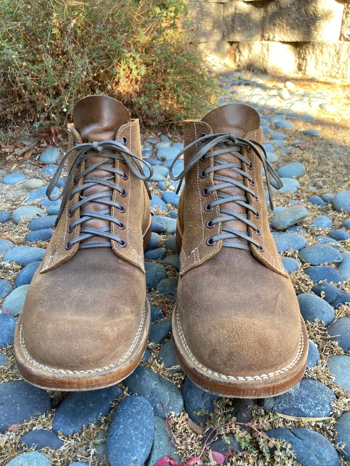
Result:
{"label": "brown suede vamp of the right boot, below the laces", "polygon": [[254,377],[286,367],[297,354],[293,285],[248,251],[223,247],[182,275],[177,296],[186,343],[210,370]]}

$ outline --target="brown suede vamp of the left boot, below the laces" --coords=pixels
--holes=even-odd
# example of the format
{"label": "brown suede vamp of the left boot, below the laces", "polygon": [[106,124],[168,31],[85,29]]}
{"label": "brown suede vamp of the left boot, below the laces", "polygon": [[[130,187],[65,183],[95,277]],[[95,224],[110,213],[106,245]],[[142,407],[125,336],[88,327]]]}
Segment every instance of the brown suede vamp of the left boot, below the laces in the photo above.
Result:
{"label": "brown suede vamp of the left boot, below the laces", "polygon": [[78,250],[46,274],[39,268],[21,315],[30,357],[63,370],[117,362],[133,345],[145,290],[140,268],[131,267],[109,247]]}

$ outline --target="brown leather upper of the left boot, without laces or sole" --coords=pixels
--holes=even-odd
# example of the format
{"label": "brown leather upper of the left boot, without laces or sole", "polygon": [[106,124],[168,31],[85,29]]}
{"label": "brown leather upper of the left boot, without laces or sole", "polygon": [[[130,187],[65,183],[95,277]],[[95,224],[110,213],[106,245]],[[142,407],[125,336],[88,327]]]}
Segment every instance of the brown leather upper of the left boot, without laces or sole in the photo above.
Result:
{"label": "brown leather upper of the left boot, without laces or sole", "polygon": [[[92,96],[77,104],[74,124],[69,125],[69,148],[75,141],[119,140],[123,136],[127,138],[127,147],[141,157],[138,120],[132,120],[121,103],[105,96]],[[69,166],[75,155],[76,151],[70,154]],[[94,162],[94,158],[89,162]],[[123,180],[115,175],[116,183],[125,187],[127,196],[119,199],[119,192],[114,190],[112,197],[122,200],[125,212],[111,207],[111,215],[126,225],[117,234],[126,240],[127,246],[122,248],[112,240],[112,247],[78,249],[76,244],[67,251],[66,243],[80,232],[80,225],[71,233],[67,231],[79,215],[79,209],[72,217],[68,215],[79,193],[67,200],[42,265],[28,289],[20,319],[28,357],[40,365],[80,371],[116,363],[127,357],[142,321],[146,300],[142,235],[149,224],[150,204],[143,181],[127,164],[116,160],[114,166],[128,176]],[[81,171],[84,163],[76,167],[76,173]],[[92,176],[109,175],[108,171],[95,170]],[[83,178],[79,184],[83,184]],[[108,190],[97,185],[85,189],[83,195]],[[106,205],[91,202],[87,206],[91,211],[101,208]],[[106,220],[91,219],[84,223],[88,222],[99,228]],[[111,233],[116,233],[115,224],[111,223]]]}

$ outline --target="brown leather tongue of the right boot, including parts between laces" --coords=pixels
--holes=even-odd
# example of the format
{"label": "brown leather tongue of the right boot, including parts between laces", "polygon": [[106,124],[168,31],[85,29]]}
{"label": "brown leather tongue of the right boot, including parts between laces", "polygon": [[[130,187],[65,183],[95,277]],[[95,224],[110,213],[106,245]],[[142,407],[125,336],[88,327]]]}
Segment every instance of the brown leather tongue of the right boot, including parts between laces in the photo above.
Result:
{"label": "brown leather tongue of the right boot, including parts between laces", "polygon": [[[254,110],[249,105],[245,105],[244,103],[233,103],[224,105],[219,107],[215,110],[209,112],[205,117],[202,118],[202,121],[208,123],[210,128],[213,130],[213,133],[229,133],[234,134],[237,137],[245,137],[249,131],[257,130],[260,126],[260,117],[256,110]],[[251,137],[252,138],[252,137]],[[213,151],[220,149],[219,147],[215,146]],[[239,146],[233,147],[234,150],[240,152],[241,148]],[[241,161],[234,156],[233,154],[226,152],[219,156],[222,160],[225,160],[228,163],[239,163]],[[214,161],[214,165],[217,165]],[[240,165],[241,166],[241,165]],[[230,168],[222,169],[214,172],[214,175],[221,175],[227,178],[232,178],[237,181],[243,182],[243,177],[239,175],[236,171],[231,170]],[[214,179],[215,185],[220,185],[223,183],[222,181],[218,181]],[[220,190],[225,194],[230,196],[245,196],[245,191],[241,188],[236,186],[232,186],[230,188],[224,188]],[[224,204],[220,204],[220,209],[230,209],[233,212],[237,212],[240,214],[246,214],[246,209],[243,206],[240,206],[236,202],[225,202]],[[225,214],[221,214],[223,217]],[[229,220],[225,221],[223,226],[230,226],[235,230],[246,232],[247,226],[241,220]],[[229,242],[239,242],[243,244],[247,244],[247,241],[242,240],[240,238],[230,238]]]}

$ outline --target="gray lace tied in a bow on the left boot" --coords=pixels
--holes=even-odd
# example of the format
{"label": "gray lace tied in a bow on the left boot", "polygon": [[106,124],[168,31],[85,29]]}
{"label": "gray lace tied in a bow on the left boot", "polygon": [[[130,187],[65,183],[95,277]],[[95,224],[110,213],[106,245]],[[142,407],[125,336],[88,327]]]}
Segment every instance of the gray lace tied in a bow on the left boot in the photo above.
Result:
{"label": "gray lace tied in a bow on the left boot", "polygon": [[[70,171],[68,173],[65,185],[63,187],[63,191],[58,196],[51,197],[52,191],[54,190],[57,180],[60,177],[61,172],[63,170],[63,165],[66,161],[66,158],[70,154],[71,151],[78,151],[78,152],[73,160],[73,163],[71,164]],[[76,188],[73,188],[72,191],[69,193],[72,178],[74,176],[74,169],[77,168],[81,162],[93,156],[95,157],[97,156],[101,158],[103,157],[107,159],[101,160],[94,164],[85,163],[85,170],[82,171],[81,173],[78,173],[73,180],[73,183],[76,185],[80,178],[84,178],[83,184],[80,186],[77,186]],[[95,194],[91,194],[91,196],[86,196],[86,197],[80,194],[79,201],[76,204],[74,204],[71,207],[70,211],[68,212],[68,215],[70,217],[73,216],[73,213],[75,210],[77,210],[79,207],[83,208],[84,204],[87,204],[88,202],[99,202],[101,204],[107,204],[108,206],[116,207],[119,212],[125,212],[125,207],[122,204],[120,204],[119,202],[112,201],[113,190],[119,191],[119,194],[121,197],[125,197],[127,195],[126,190],[114,182],[115,174],[120,175],[120,177],[123,179],[127,179],[127,174],[125,173],[125,171],[120,170],[118,168],[114,168],[114,160],[121,160],[122,162],[124,162],[130,168],[130,170],[134,173],[134,175],[137,176],[137,178],[140,178],[142,181],[144,181],[146,188],[147,188],[148,196],[151,199],[151,194],[148,189],[147,180],[149,180],[149,178],[151,178],[151,176],[153,175],[153,168],[150,164],[142,160],[142,158],[137,157],[136,155],[133,154],[133,152],[129,151],[129,149],[126,147],[125,139],[122,138],[119,141],[106,140],[106,141],[101,141],[101,142],[76,144],[74,147],[72,147],[69,151],[67,151],[64,154],[60,164],[58,165],[56,173],[53,176],[48,186],[48,189],[46,191],[46,195],[51,201],[55,201],[62,197],[62,203],[61,203],[61,207],[58,212],[58,215],[57,215],[55,226],[57,226],[58,220],[63,213],[67,198],[72,199],[77,192],[82,192],[84,189],[87,189],[87,188],[90,188],[96,185],[107,186],[108,188],[111,188],[111,191],[97,192]],[[132,161],[134,162],[136,167]],[[144,163],[147,166],[148,170],[150,171],[150,174],[148,176],[145,175],[145,172],[142,169],[142,163]],[[100,170],[110,171],[113,174],[111,176],[107,176],[104,178],[95,178],[95,177],[88,176],[89,173],[91,173],[91,171],[97,168]],[[121,220],[111,216],[111,207],[109,209],[99,210],[98,212],[87,211],[87,210],[84,210],[83,208],[80,211],[80,218],[73,221],[70,224],[70,226],[68,227],[68,232],[71,233],[77,225],[82,224],[86,220],[90,220],[92,218],[108,220],[109,222],[113,222],[117,225],[117,227],[120,230],[123,230],[125,228],[125,224]],[[121,239],[118,235],[112,234],[110,232],[111,232],[110,226],[104,226],[98,229],[87,228],[87,227],[82,226],[80,228],[80,236],[77,236],[76,238],[70,240],[66,244],[66,249],[70,249],[71,247],[74,246],[74,244],[82,240],[87,240],[95,235],[106,238],[106,241],[93,241],[90,243],[89,242],[80,243],[79,248],[105,247],[105,246],[110,247],[111,246],[110,240],[117,241],[121,247],[126,246],[125,240]]]}

